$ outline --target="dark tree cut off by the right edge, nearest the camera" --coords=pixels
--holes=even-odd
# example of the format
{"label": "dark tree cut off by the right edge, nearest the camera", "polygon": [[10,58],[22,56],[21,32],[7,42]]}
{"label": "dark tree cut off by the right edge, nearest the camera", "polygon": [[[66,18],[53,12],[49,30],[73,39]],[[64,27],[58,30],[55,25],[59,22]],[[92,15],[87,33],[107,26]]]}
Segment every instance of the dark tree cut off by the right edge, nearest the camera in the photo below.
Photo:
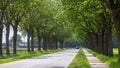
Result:
{"label": "dark tree cut off by the right edge, nearest the camera", "polygon": [[118,39],[118,62],[120,62],[120,8],[119,8],[119,4],[120,1],[119,0],[100,0],[102,2],[103,5],[105,5],[105,8],[108,8],[111,12],[113,21],[114,21],[114,25],[116,28],[116,35],[117,35],[117,39]]}

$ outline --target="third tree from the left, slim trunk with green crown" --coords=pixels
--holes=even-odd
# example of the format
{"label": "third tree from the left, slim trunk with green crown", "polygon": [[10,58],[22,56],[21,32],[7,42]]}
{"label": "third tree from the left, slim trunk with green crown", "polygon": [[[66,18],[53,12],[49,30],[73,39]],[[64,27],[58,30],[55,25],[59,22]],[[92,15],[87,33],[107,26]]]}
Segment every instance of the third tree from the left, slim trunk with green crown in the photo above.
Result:
{"label": "third tree from the left, slim trunk with green crown", "polygon": [[18,25],[20,23],[20,21],[22,20],[22,17],[24,16],[25,9],[27,6],[27,1],[11,1],[10,4],[10,14],[12,17],[12,27],[13,27],[13,31],[14,31],[14,36],[13,36],[13,53],[17,54],[16,51],[16,40],[17,40],[17,31],[18,31]]}

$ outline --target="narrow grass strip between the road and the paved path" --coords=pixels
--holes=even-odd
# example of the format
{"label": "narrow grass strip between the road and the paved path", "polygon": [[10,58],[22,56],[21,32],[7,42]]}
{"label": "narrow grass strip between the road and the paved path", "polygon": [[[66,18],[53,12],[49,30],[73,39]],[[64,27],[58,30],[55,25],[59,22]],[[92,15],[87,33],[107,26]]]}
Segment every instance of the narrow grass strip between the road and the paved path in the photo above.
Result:
{"label": "narrow grass strip between the road and the paved path", "polygon": [[82,49],[79,50],[68,68],[90,68],[88,60]]}

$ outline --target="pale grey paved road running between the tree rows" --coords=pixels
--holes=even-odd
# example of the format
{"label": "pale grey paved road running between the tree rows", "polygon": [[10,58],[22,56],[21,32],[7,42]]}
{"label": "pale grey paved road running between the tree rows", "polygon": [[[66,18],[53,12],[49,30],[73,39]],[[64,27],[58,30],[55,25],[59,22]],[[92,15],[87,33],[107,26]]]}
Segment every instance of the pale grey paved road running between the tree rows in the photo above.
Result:
{"label": "pale grey paved road running between the tree rows", "polygon": [[77,52],[78,49],[70,49],[31,59],[0,64],[0,68],[67,68]]}

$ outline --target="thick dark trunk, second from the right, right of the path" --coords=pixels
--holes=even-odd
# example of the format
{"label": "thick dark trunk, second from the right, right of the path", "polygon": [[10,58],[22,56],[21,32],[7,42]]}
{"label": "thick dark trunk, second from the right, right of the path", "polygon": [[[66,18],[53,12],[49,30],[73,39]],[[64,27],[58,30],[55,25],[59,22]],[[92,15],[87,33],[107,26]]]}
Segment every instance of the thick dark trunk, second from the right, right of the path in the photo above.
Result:
{"label": "thick dark trunk, second from the right, right of the path", "polygon": [[[105,6],[103,5],[105,8]],[[106,56],[113,56],[113,48],[112,48],[112,24],[111,24],[111,16],[104,9],[104,13],[101,13],[101,20],[103,21],[103,54]]]}

